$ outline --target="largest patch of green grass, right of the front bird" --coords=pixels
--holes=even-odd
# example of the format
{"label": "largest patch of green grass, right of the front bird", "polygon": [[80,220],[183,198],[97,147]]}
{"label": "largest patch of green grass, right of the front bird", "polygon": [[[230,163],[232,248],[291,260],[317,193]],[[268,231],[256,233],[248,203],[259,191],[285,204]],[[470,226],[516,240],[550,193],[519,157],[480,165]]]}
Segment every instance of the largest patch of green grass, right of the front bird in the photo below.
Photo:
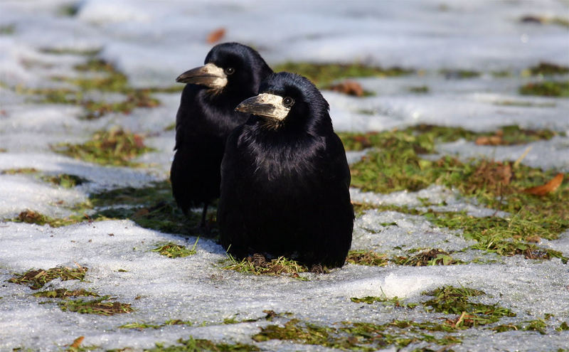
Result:
{"label": "largest patch of green grass, right of the front bird", "polygon": [[[555,135],[548,130],[531,131],[517,127],[501,129],[504,144],[516,144]],[[528,243],[541,239],[553,240],[569,228],[569,184],[545,196],[524,192],[526,188],[547,183],[557,173],[542,171],[523,164],[473,159],[462,162],[450,156],[431,161],[422,154],[434,151],[437,142],[449,142],[459,137],[474,140],[481,134],[464,129],[418,126],[402,131],[371,134],[341,134],[346,149],[374,147],[361,161],[351,166],[351,186],[363,191],[390,193],[419,191],[440,184],[474,198],[482,206],[503,210],[509,218],[496,216],[474,218],[464,213],[419,212],[400,207],[374,207],[356,204],[356,213],[368,208],[395,210],[423,215],[434,225],[462,230],[464,238],[477,240],[475,249],[499,255],[524,255],[528,259],[567,258],[560,252]],[[441,257],[442,259],[442,257]],[[387,258],[385,258],[387,260]],[[449,258],[447,257],[448,261]]]}

